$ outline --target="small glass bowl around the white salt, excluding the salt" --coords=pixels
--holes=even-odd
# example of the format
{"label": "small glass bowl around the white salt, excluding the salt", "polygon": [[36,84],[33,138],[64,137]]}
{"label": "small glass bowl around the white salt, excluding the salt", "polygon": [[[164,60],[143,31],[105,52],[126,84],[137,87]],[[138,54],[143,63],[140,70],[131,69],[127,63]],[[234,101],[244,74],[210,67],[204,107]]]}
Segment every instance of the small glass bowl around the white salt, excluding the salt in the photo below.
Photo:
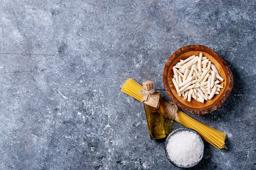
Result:
{"label": "small glass bowl around the white salt, excluding the salt", "polygon": [[[170,159],[170,157],[169,157],[169,155],[168,155],[168,152],[167,152],[167,149],[166,149],[168,140],[169,140],[169,138],[170,138],[172,135],[174,135],[176,132],[180,132],[180,131],[190,131],[190,132],[193,132],[193,133],[195,133],[195,134],[197,134],[197,135],[199,136],[199,139],[200,139],[200,141],[201,141],[201,144],[202,144],[202,155],[200,156],[200,158],[198,159],[198,161],[197,161],[196,163],[194,163],[193,165],[190,165],[190,166],[180,166],[180,165],[177,165],[176,163],[174,163],[174,162]],[[171,133],[168,135],[168,137],[166,138],[165,143],[164,143],[164,150],[165,150],[165,154],[166,154],[167,159],[168,159],[173,165],[175,165],[175,166],[177,166],[177,167],[179,167],[179,168],[191,168],[191,167],[193,167],[193,166],[196,166],[196,165],[202,160],[203,155],[204,155],[204,142],[203,142],[201,136],[200,136],[200,135],[198,134],[198,132],[196,132],[195,130],[189,129],[189,128],[180,128],[180,129],[174,130],[173,132],[171,132]]]}

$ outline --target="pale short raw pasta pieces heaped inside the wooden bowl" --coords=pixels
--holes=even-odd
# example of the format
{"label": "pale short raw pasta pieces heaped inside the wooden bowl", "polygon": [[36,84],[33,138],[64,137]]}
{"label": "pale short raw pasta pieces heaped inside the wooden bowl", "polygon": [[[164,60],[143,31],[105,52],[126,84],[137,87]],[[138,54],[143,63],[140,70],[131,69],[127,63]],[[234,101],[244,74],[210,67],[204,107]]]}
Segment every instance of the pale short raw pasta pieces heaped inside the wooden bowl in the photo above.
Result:
{"label": "pale short raw pasta pieces heaped inside the wooden bowl", "polygon": [[224,79],[219,75],[216,66],[202,53],[180,60],[173,66],[173,73],[172,82],[178,96],[184,97],[188,102],[195,99],[204,103],[220,94],[224,88],[220,83]]}

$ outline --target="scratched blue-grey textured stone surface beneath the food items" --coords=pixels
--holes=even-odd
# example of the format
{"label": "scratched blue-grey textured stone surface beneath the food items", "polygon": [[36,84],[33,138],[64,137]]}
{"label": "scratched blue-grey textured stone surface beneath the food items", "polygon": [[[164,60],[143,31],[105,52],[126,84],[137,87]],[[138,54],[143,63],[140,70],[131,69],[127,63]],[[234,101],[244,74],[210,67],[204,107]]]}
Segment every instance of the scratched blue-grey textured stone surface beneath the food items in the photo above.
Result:
{"label": "scratched blue-grey textured stone surface beneath the food items", "polygon": [[0,169],[178,170],[120,87],[132,77],[163,89],[167,58],[188,44],[234,74],[217,111],[189,114],[228,137],[227,150],[205,143],[192,169],[255,170],[255,0],[0,0]]}

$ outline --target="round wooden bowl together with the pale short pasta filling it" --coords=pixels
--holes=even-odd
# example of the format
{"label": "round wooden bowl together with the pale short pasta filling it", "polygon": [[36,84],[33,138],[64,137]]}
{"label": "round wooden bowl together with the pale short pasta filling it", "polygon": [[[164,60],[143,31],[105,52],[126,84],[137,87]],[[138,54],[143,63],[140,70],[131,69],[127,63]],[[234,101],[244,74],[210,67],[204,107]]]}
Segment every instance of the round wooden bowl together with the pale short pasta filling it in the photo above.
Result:
{"label": "round wooden bowl together with the pale short pasta filling it", "polygon": [[163,70],[163,84],[169,97],[182,110],[198,115],[218,109],[231,93],[233,81],[229,66],[218,53],[198,44],[177,49]]}

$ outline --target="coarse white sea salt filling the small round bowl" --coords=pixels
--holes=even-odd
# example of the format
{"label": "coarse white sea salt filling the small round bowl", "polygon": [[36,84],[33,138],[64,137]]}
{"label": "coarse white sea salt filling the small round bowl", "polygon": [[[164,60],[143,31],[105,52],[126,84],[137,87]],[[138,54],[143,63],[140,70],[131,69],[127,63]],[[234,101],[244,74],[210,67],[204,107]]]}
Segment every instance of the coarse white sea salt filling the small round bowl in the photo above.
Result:
{"label": "coarse white sea salt filling the small round bowl", "polygon": [[203,152],[199,136],[188,130],[170,136],[166,150],[173,163],[185,167],[197,163]]}

